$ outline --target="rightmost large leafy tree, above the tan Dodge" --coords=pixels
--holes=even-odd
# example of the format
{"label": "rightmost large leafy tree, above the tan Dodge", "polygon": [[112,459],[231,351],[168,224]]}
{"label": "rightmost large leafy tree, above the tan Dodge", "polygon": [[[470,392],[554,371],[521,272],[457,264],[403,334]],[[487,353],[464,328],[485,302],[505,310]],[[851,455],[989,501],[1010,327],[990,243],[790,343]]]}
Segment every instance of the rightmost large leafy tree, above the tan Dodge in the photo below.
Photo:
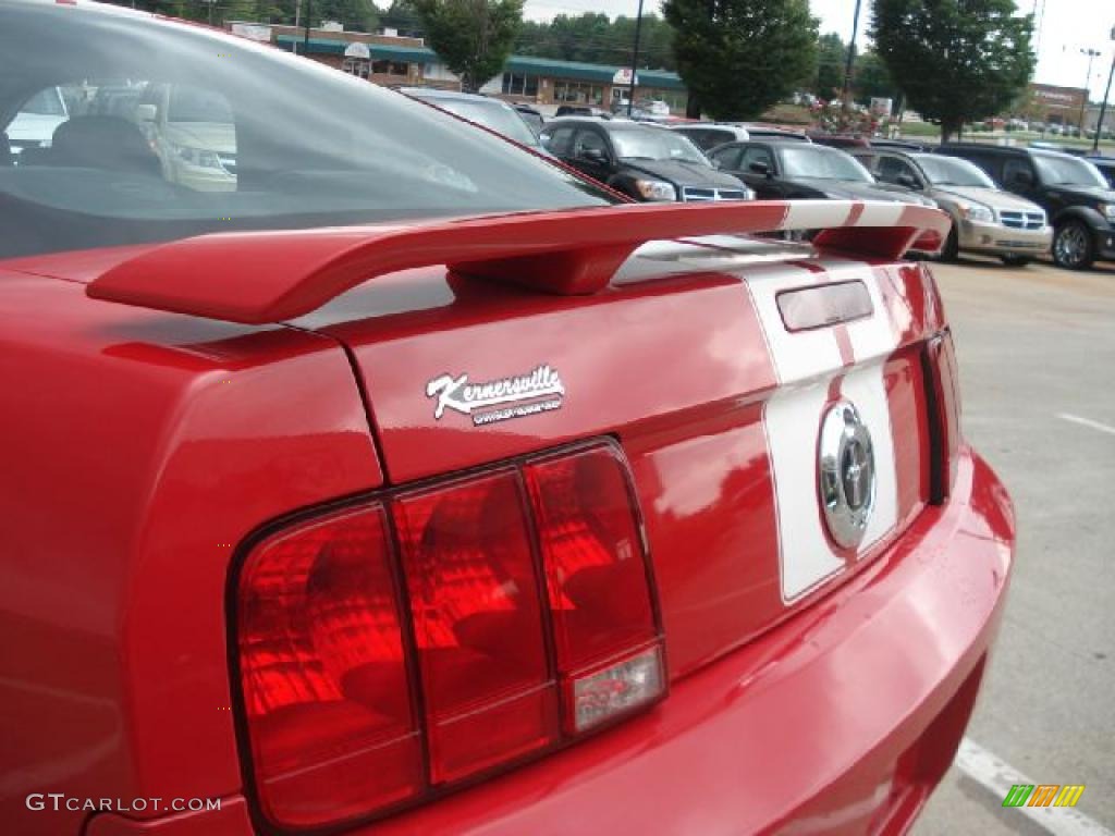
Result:
{"label": "rightmost large leafy tree, above the tan Dodge", "polygon": [[995,116],[1029,81],[1034,16],[1015,0],[875,0],[875,51],[910,106],[948,140]]}

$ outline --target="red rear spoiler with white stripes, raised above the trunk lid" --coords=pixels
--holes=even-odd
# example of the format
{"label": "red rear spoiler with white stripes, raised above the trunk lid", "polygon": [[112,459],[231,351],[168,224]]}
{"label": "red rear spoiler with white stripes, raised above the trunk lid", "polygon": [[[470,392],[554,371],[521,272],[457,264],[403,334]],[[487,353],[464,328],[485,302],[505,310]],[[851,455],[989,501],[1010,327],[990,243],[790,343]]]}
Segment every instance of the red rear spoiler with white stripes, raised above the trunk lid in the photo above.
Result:
{"label": "red rear spoiler with white stripes, raised above the trunk lid", "polygon": [[927,206],[846,201],[624,204],[394,226],[229,232],[156,246],[86,289],[94,299],[263,324],[317,310],[378,275],[444,264],[562,295],[608,286],[649,241],[821,232],[826,252],[896,260],[935,253],[951,221]]}

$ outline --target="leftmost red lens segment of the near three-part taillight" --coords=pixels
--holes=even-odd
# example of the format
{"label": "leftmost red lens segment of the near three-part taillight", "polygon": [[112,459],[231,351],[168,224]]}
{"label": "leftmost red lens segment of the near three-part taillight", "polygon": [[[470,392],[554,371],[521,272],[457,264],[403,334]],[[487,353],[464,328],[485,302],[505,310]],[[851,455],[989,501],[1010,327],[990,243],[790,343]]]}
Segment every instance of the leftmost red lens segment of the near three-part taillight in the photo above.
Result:
{"label": "leftmost red lens segment of the near three-part taillight", "polygon": [[358,817],[423,786],[390,565],[379,505],[265,539],[244,564],[243,698],[277,824]]}

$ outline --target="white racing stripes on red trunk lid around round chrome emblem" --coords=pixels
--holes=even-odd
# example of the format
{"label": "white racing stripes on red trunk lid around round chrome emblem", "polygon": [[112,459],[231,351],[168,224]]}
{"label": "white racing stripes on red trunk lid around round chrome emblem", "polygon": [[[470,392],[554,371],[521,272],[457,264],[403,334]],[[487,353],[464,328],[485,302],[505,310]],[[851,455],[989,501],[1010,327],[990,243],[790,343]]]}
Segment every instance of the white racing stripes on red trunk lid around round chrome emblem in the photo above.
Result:
{"label": "white racing stripes on red trunk lid around round chrome emblem", "polygon": [[846,565],[825,533],[817,497],[817,435],[828,387],[837,375],[845,375],[842,397],[855,406],[867,426],[875,456],[875,509],[857,554],[878,543],[898,523],[898,473],[883,380],[883,361],[894,350],[898,338],[874,273],[866,265],[849,263],[838,278],[846,280],[853,275],[869,288],[874,313],[855,323],[855,331],[849,328],[853,357],[861,364],[845,375],[836,329],[791,333],[783,324],[776,301],[783,290],[826,283],[834,276],[787,264],[745,272],[779,382],[778,391],[764,407],[764,430],[775,483],[782,597],[787,603],[844,571]]}

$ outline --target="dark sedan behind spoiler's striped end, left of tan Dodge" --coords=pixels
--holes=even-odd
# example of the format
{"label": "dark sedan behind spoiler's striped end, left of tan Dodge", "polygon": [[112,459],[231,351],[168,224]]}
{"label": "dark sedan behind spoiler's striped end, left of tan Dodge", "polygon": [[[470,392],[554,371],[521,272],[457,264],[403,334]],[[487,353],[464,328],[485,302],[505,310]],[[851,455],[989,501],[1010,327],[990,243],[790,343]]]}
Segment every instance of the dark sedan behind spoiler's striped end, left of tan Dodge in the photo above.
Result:
{"label": "dark sedan behind spoiler's striped end, left of tan Dodge", "polygon": [[721,172],[747,184],[759,200],[821,197],[933,205],[909,188],[876,183],[853,156],[824,145],[728,143],[709,157]]}

